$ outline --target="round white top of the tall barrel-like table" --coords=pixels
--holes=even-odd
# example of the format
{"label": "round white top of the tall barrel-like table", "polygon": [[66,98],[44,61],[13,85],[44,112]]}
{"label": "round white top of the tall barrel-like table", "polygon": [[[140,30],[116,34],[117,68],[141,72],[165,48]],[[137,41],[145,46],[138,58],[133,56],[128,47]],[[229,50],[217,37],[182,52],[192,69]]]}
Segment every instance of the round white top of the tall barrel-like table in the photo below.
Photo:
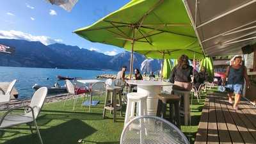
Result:
{"label": "round white top of the tall barrel-like table", "polygon": [[127,80],[126,83],[140,86],[171,86],[173,83],[165,81]]}

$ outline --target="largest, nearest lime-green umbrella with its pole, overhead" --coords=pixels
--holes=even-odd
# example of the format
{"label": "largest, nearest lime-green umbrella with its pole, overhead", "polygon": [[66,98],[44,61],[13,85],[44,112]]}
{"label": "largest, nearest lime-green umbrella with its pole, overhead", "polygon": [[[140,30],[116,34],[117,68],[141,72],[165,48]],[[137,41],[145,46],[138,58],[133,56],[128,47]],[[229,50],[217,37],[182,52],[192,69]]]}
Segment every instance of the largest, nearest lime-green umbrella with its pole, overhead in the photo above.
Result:
{"label": "largest, nearest lime-green umbrella with its pole, overhead", "polygon": [[[133,0],[74,33],[132,52],[200,48],[181,0]],[[131,53],[130,77],[132,56]]]}

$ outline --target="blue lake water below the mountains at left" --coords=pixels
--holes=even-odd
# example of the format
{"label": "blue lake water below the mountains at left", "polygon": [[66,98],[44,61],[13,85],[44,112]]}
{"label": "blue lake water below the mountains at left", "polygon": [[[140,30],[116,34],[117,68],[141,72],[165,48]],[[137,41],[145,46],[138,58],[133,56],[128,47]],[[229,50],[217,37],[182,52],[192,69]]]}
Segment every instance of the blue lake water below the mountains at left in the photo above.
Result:
{"label": "blue lake water below the mountains at left", "polygon": [[[35,92],[34,84],[53,86],[58,80],[56,76],[82,77],[95,79],[100,74],[116,74],[113,71],[99,70],[74,70],[55,68],[25,68],[25,67],[0,67],[0,82],[10,82],[17,79],[15,88],[19,92],[19,99],[30,98]],[[58,82],[61,85],[64,82]]]}

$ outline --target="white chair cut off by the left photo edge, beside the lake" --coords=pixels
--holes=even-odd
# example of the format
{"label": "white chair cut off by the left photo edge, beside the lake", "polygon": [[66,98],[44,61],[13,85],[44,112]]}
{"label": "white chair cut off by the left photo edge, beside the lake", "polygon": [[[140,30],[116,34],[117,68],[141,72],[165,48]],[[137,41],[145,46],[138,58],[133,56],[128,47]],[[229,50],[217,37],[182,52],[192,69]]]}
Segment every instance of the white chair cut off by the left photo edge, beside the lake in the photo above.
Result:
{"label": "white chair cut off by the left photo edge, beside the lake", "polygon": [[9,108],[10,100],[11,100],[11,92],[13,90],[14,84],[16,83],[16,79],[14,79],[8,86],[6,93],[0,94],[0,105],[6,104],[7,108]]}

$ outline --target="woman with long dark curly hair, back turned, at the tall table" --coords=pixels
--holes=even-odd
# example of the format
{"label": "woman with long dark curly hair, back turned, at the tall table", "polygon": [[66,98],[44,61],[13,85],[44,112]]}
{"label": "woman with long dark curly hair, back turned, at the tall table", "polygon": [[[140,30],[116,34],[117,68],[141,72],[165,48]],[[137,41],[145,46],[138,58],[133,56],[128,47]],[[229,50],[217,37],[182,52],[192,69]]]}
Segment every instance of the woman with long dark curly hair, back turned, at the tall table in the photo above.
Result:
{"label": "woman with long dark curly hair, back turned, at the tall table", "polygon": [[[191,76],[194,75],[194,80],[198,81],[198,72],[189,65],[188,56],[182,54],[178,60],[178,64],[173,68],[170,75],[170,82],[174,83],[175,90],[188,90],[192,88]],[[193,74],[194,73],[194,74]]]}

